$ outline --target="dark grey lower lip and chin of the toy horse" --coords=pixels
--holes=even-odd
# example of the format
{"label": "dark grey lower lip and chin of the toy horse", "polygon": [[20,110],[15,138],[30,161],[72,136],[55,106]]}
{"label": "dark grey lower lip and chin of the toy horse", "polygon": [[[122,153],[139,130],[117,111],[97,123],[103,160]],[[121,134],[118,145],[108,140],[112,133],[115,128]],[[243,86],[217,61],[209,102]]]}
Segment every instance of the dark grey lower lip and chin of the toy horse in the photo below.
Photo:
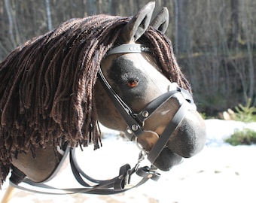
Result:
{"label": "dark grey lower lip and chin of the toy horse", "polygon": [[154,162],[154,166],[161,171],[169,171],[172,166],[178,165],[183,161],[183,157],[173,153],[169,148],[163,148],[160,155]]}

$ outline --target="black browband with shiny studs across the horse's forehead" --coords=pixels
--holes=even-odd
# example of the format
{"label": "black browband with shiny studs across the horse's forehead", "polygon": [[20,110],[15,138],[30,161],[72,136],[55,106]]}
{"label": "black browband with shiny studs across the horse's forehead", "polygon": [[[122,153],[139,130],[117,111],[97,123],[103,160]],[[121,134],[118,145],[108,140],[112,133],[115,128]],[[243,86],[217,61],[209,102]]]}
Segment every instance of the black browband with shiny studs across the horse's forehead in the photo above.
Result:
{"label": "black browband with shiny studs across the horse's forehead", "polygon": [[142,53],[151,52],[150,48],[144,44],[121,44],[118,47],[114,47],[105,54],[109,56],[115,53]]}

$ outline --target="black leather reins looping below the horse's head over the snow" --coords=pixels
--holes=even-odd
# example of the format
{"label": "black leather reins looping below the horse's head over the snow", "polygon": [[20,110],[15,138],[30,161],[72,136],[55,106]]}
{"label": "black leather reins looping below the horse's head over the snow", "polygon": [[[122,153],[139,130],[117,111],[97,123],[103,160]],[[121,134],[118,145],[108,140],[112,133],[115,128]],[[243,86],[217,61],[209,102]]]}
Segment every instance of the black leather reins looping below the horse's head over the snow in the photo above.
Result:
{"label": "black leather reins looping below the horse's head over the snow", "polygon": [[[59,189],[47,185],[45,182],[49,181],[56,175],[68,155],[74,177],[83,187]],[[84,173],[84,171],[81,170],[75,156],[75,149],[70,149],[69,147],[67,147],[58,167],[47,180],[41,183],[35,183],[29,178],[26,178],[19,169],[13,168],[10,178],[10,185],[18,189],[23,189],[27,192],[35,192],[47,195],[68,195],[74,193],[87,193],[98,195],[117,194],[140,186],[149,179],[158,180],[160,178],[160,174],[157,172],[157,168],[155,168],[153,165],[151,167],[145,166],[139,168],[139,165],[144,158],[145,152],[141,151],[139,153],[138,162],[133,168],[131,168],[129,164],[126,164],[120,167],[117,177],[114,177],[110,180],[96,180],[93,177],[88,176]],[[136,185],[130,186],[130,180],[133,174],[139,175],[139,177],[142,177],[142,180],[140,180],[139,183],[136,183]],[[19,183],[26,183],[27,186],[20,186]],[[29,188],[28,185],[32,186],[32,188]]]}

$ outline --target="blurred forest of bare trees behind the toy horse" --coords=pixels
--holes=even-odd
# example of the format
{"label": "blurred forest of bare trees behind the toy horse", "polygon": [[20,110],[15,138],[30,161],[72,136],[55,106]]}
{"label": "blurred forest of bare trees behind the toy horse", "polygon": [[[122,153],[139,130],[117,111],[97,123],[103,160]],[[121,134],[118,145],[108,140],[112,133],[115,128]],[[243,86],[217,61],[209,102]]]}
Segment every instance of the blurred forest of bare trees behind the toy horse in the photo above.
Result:
{"label": "blurred forest of bare trees behind the toy horse", "polygon": [[[19,44],[63,21],[93,14],[133,16],[147,0],[0,0],[0,62]],[[166,35],[201,112],[256,105],[256,1],[157,0]]]}

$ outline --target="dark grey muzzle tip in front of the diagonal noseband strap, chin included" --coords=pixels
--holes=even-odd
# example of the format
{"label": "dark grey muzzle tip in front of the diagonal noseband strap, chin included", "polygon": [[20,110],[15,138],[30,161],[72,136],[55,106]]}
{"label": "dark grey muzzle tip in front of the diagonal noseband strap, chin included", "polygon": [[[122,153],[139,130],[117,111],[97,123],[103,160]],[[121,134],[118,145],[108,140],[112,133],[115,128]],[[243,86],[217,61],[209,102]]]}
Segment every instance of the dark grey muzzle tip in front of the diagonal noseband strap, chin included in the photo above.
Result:
{"label": "dark grey muzzle tip in front of the diagonal noseband strap, chin included", "polygon": [[[171,132],[170,132],[171,133]],[[160,154],[152,163],[162,171],[169,171],[172,166],[178,165],[183,158],[200,153],[206,143],[206,127],[197,111],[188,111],[180,125]]]}

